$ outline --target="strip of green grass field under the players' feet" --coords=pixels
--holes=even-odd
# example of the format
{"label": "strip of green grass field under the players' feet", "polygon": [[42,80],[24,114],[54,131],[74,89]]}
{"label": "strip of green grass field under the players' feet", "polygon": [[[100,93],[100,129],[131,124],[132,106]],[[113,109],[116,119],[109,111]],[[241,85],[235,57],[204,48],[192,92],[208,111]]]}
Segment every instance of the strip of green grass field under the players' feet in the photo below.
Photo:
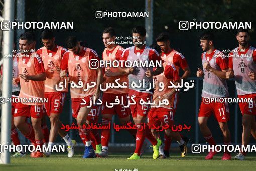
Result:
{"label": "strip of green grass field under the players' feet", "polygon": [[[232,157],[234,154],[232,154]],[[68,158],[67,155],[52,155],[49,158],[11,158],[10,165],[0,165],[0,170],[115,170],[138,168],[141,170],[256,170],[256,156],[248,155],[245,161],[222,161],[221,154],[213,160],[205,160],[203,155],[188,154],[181,158],[178,154],[171,158],[153,160],[144,155],[140,160],[127,160],[128,154],[110,155],[108,158],[83,159],[82,155]]]}

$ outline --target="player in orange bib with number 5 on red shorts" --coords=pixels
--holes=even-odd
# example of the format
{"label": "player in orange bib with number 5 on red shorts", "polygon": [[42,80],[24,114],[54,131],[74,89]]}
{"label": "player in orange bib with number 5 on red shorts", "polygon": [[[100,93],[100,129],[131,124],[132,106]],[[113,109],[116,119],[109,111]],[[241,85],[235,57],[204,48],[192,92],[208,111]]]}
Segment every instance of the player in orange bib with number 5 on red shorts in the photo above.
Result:
{"label": "player in orange bib with number 5 on red shorts", "polygon": [[[41,56],[46,73],[44,94],[45,98],[48,99],[48,102],[45,103],[44,107],[51,122],[48,146],[50,146],[50,148],[53,147],[57,134],[59,133],[68,146],[68,157],[72,157],[74,155],[76,141],[71,140],[67,132],[60,128],[62,122],[59,120],[64,100],[68,92],[67,87],[60,90],[58,86],[60,82],[65,82],[64,79],[67,79],[67,77],[60,78],[60,65],[66,49],[55,44],[55,37],[50,30],[43,31],[41,38],[44,47],[38,49],[37,54]],[[56,85],[58,90],[56,89]],[[45,155],[48,157],[51,155],[51,152],[47,151],[45,152]]]}

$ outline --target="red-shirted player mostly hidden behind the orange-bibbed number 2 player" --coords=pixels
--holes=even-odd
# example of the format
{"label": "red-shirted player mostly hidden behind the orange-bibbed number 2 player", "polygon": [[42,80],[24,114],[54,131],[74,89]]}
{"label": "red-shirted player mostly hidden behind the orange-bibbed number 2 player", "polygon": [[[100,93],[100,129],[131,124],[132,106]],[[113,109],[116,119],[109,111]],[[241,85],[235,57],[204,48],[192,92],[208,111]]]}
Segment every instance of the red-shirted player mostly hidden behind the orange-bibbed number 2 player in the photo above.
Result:
{"label": "red-shirted player mostly hidden behind the orange-bibbed number 2 player", "polygon": [[[190,75],[190,68],[188,66],[188,63],[185,59],[185,57],[179,53],[178,51],[176,51],[175,49],[170,47],[170,38],[169,35],[167,33],[160,33],[157,38],[156,38],[156,42],[157,44],[161,47],[161,58],[162,60],[164,60],[165,62],[169,62],[171,64],[173,64],[176,69],[177,72],[179,74],[180,68],[183,70],[183,75],[179,78],[179,80],[177,80],[177,82],[181,82],[181,79],[187,79]],[[176,101],[178,102],[179,100],[179,96],[177,95],[176,97]],[[174,108],[176,109],[176,106],[174,106]],[[182,135],[181,135],[182,136]],[[189,142],[189,138],[182,136],[182,139],[188,143]],[[165,158],[165,157],[170,157],[169,151],[170,151],[170,146],[171,146],[171,142],[172,139],[167,136],[166,134],[164,134],[164,154],[162,154],[162,146],[160,146],[160,155],[161,157]]]}

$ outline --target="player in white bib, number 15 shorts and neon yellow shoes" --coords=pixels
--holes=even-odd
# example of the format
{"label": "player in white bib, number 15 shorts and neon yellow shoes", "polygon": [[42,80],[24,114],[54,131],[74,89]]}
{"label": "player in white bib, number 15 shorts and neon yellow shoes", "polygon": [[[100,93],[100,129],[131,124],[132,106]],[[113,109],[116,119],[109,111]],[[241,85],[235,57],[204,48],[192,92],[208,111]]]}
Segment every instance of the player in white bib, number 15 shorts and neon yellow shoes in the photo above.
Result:
{"label": "player in white bib, number 15 shorts and neon yellow shoes", "polygon": [[[156,61],[161,61],[161,58],[156,50],[151,49],[145,45],[146,39],[146,30],[142,26],[136,26],[132,30],[133,33],[133,43],[134,46],[125,49],[122,54],[121,60],[129,60],[132,63],[135,61],[150,62],[153,61],[155,64]],[[137,62],[139,63],[139,62]],[[159,146],[162,144],[161,140],[156,139],[149,129],[147,122],[147,114],[150,110],[149,104],[140,104],[141,99],[145,102],[152,100],[152,95],[154,92],[153,86],[150,89],[150,85],[153,83],[153,76],[159,75],[163,72],[163,67],[157,67],[153,71],[153,67],[130,67],[130,68],[121,68],[121,73],[126,73],[129,80],[129,97],[135,95],[134,100],[136,104],[130,104],[130,109],[134,123],[137,126],[136,133],[136,148],[134,154],[128,159],[140,159],[140,151],[145,140],[145,137],[153,145],[153,158],[157,159],[159,155]],[[132,87],[132,82],[138,84],[140,82],[145,82],[145,87]],[[150,89],[150,90],[147,90]]]}

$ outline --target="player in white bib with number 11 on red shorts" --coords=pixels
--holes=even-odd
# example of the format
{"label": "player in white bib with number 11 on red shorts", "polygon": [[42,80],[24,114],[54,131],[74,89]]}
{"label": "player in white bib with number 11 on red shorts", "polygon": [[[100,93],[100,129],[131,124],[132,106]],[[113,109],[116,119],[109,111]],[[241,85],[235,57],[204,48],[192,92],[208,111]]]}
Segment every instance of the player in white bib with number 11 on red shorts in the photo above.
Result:
{"label": "player in white bib with number 11 on red shorts", "polygon": [[[209,102],[211,99],[219,99],[228,97],[228,88],[226,83],[226,71],[228,68],[228,59],[224,54],[214,47],[214,35],[211,32],[205,32],[200,39],[203,53],[201,55],[203,70],[198,68],[197,77],[204,76],[202,102],[198,113],[198,123],[206,141],[211,146],[215,146],[216,142],[212,137],[212,133],[207,126],[208,118],[213,114],[219,123],[219,127],[223,133],[225,145],[231,144],[231,135],[228,129],[227,121],[229,120],[229,108],[227,102]],[[211,150],[205,157],[206,160],[212,159],[217,154]],[[225,150],[222,160],[230,160],[231,155]]]}

